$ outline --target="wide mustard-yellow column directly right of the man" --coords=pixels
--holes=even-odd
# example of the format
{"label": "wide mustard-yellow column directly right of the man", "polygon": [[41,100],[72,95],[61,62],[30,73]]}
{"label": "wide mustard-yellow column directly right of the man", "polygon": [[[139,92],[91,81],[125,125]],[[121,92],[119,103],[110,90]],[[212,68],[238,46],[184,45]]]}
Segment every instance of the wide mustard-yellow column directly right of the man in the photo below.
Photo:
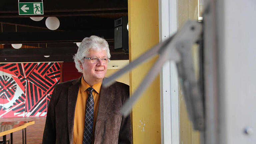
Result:
{"label": "wide mustard-yellow column directly right of the man", "polygon": [[[158,0],[128,0],[129,59],[133,61],[159,42]],[[130,72],[130,93],[143,80],[156,57]],[[159,75],[132,109],[134,144],[160,144]]]}

